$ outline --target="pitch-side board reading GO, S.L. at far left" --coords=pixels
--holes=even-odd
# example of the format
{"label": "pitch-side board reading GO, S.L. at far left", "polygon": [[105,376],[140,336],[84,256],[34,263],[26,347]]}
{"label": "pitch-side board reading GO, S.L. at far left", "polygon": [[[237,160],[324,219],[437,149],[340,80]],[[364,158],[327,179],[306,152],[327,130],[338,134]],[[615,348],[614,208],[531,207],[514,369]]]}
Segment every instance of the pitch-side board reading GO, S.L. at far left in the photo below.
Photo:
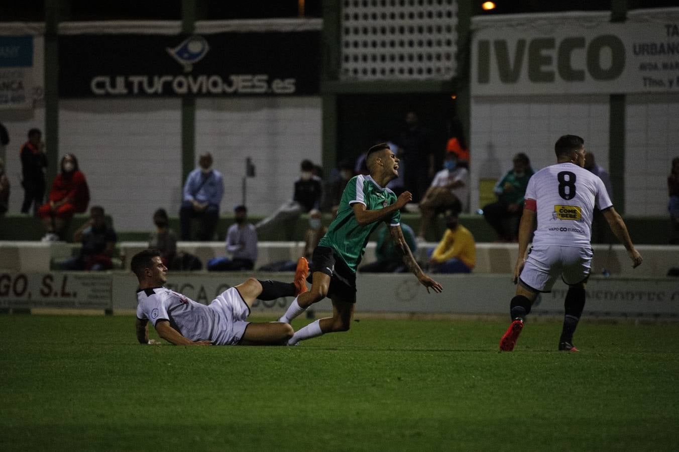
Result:
{"label": "pitch-side board reading GO, S.L. at far left", "polygon": [[110,274],[54,271],[0,274],[0,307],[111,309]]}

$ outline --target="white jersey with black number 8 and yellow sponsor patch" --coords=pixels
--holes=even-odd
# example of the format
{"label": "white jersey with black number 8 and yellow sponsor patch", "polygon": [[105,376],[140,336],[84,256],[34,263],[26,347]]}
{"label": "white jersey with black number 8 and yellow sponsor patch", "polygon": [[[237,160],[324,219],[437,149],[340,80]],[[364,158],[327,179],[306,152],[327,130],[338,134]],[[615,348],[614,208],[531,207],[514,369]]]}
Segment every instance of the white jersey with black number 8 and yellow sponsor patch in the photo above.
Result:
{"label": "white jersey with black number 8 and yellow sponsor patch", "polygon": [[533,174],[526,199],[536,201],[536,245],[590,246],[594,208],[612,206],[599,176],[572,163],[547,166]]}

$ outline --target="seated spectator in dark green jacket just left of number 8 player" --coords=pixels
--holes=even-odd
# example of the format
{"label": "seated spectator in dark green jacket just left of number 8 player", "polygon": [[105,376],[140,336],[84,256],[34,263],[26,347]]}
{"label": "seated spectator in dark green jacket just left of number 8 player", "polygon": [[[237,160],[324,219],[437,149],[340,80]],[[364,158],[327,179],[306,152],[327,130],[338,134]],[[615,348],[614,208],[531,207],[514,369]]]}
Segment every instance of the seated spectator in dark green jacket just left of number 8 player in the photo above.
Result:
{"label": "seated spectator in dark green jacket just left of number 8 player", "polygon": [[493,191],[498,201],[483,206],[485,221],[498,233],[498,240],[517,240],[519,219],[524,211],[524,195],[528,180],[533,175],[530,159],[524,153],[517,153],[512,159],[513,168],[495,185]]}

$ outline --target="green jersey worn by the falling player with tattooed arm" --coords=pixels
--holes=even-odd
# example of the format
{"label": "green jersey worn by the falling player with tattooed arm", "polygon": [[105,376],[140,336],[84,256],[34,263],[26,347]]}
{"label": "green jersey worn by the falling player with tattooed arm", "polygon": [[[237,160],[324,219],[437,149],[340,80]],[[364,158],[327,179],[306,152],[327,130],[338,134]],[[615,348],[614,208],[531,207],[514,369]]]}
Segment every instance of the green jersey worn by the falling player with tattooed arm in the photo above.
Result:
{"label": "green jersey worn by the falling player with tattooed arm", "polygon": [[[380,221],[365,226],[359,225],[352,205],[360,202],[365,205],[366,210],[379,210],[394,204],[396,200],[397,197],[393,191],[380,187],[370,176],[359,174],[359,176],[352,177],[342,193],[337,216],[330,223],[327,233],[320,239],[318,246],[332,248],[335,254],[355,273],[356,267],[363,258],[368,237],[380,225]],[[401,224],[401,212],[395,210],[383,221],[387,225],[398,226]]]}

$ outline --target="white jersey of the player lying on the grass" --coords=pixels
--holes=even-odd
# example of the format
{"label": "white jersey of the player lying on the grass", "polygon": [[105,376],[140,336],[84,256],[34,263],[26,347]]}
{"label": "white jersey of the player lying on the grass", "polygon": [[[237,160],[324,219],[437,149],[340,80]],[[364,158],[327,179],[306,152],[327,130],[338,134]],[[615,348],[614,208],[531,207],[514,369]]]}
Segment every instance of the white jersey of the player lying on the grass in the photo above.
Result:
{"label": "white jersey of the player lying on the grass", "polygon": [[138,290],[136,316],[151,320],[168,320],[170,326],[191,341],[215,339],[219,319],[215,309],[196,303],[181,293],[164,287]]}

